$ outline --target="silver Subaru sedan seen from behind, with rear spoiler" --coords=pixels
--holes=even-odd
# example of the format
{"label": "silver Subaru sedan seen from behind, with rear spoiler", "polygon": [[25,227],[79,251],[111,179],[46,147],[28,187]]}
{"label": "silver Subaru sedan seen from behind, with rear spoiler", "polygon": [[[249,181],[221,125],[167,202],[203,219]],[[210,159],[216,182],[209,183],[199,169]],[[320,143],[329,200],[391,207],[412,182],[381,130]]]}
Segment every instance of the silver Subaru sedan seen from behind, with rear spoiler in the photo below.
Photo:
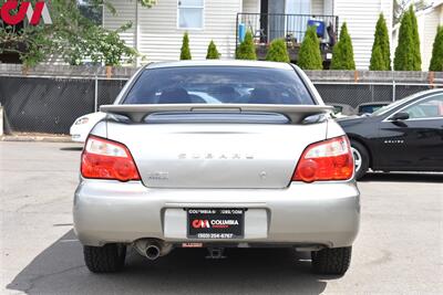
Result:
{"label": "silver Subaru sedan seen from behind, with rear spoiler", "polygon": [[306,74],[249,61],[141,69],[86,139],[74,229],[92,272],[176,247],[292,247],[347,272],[360,222],[349,140]]}

